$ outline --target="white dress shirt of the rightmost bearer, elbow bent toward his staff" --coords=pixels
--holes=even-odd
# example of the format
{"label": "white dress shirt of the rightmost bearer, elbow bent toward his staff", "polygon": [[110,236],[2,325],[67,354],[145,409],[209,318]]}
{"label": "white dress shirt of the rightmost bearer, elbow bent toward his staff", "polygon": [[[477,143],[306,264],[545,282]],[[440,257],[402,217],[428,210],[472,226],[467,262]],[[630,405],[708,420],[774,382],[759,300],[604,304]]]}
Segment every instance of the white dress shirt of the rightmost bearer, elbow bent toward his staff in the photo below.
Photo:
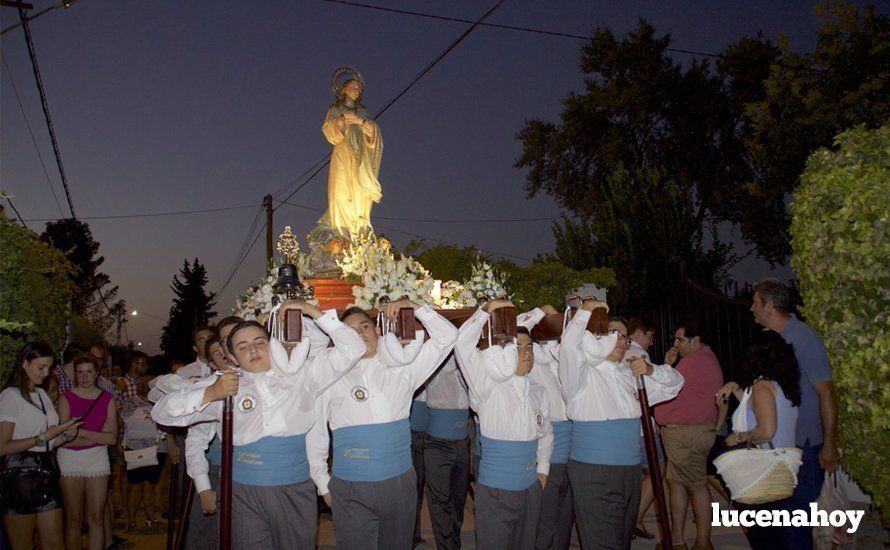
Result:
{"label": "white dress shirt of the rightmost bearer, elbow bent toward his staff", "polygon": [[[587,330],[590,312],[578,310],[562,334],[559,380],[567,416],[576,421],[639,418],[640,402],[630,365],[607,361],[617,334],[594,336]],[[667,365],[654,365],[644,376],[649,403],[673,399],[683,388],[683,376]]]}

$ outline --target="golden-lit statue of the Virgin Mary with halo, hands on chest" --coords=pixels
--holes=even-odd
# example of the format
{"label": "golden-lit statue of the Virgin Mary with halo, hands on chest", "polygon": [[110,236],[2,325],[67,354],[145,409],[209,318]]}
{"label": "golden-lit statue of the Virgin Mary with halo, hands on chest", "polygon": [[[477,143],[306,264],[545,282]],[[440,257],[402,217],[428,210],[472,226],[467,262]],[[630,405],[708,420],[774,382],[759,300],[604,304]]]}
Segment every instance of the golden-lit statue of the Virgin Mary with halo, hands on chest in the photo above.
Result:
{"label": "golden-lit statue of the Virgin Mary with halo, hands on chest", "polygon": [[346,239],[373,232],[371,205],[383,196],[377,180],[383,137],[361,103],[364,88],[365,81],[355,69],[334,71],[331,89],[337,99],[321,126],[334,150],[328,173],[328,210],[318,220],[319,229]]}

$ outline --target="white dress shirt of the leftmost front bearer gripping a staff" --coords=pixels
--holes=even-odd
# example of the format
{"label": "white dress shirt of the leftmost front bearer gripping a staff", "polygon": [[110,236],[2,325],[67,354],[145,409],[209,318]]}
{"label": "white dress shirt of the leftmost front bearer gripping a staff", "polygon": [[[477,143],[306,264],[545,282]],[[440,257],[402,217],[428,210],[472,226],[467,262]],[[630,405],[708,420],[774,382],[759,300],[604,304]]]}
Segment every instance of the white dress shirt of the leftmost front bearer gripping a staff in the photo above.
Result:
{"label": "white dress shirt of the leftmost front bearer gripping a staff", "polygon": [[[316,397],[354,367],[364,354],[364,341],[354,329],[337,319],[336,311],[326,311],[316,323],[330,335],[334,347],[325,346],[310,357],[307,352],[310,340],[304,339],[292,350],[290,363],[284,366],[278,363],[284,348],[273,338],[269,342],[272,368],[261,373],[242,373],[238,394],[234,397],[234,445],[248,445],[269,436],[307,433],[315,424]],[[277,351],[272,352],[273,348]],[[274,359],[276,356],[278,361]],[[216,377],[209,377],[183,387],[181,381],[165,379],[155,386],[156,390],[166,393],[152,409],[152,418],[167,426],[191,426],[186,441],[186,461],[189,475],[194,472],[197,476],[193,476],[196,488],[210,486],[204,451],[222,419],[222,401],[201,404],[205,388],[215,381]]]}

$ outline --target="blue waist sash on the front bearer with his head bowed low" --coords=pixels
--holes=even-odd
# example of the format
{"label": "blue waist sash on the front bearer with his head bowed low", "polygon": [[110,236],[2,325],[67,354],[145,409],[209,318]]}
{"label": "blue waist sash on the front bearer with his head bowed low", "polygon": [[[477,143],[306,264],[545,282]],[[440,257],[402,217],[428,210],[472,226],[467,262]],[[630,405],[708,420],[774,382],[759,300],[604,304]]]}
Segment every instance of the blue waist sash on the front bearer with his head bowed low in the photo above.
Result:
{"label": "blue waist sash on the front bearer with his head bowed low", "polygon": [[524,491],[537,481],[537,439],[505,441],[479,437],[485,448],[479,464],[479,483],[495,489]]}

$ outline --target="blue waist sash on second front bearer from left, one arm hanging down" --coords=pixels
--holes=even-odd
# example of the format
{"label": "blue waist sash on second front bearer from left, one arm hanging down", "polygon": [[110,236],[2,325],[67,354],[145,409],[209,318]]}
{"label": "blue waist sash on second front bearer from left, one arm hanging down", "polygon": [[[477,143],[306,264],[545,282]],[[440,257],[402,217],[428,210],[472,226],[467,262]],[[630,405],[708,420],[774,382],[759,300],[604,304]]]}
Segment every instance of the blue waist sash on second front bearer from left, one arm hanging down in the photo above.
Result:
{"label": "blue waist sash on second front bearer from left, one arm hanging down", "polygon": [[334,475],[346,481],[383,481],[411,469],[408,419],[334,430]]}

